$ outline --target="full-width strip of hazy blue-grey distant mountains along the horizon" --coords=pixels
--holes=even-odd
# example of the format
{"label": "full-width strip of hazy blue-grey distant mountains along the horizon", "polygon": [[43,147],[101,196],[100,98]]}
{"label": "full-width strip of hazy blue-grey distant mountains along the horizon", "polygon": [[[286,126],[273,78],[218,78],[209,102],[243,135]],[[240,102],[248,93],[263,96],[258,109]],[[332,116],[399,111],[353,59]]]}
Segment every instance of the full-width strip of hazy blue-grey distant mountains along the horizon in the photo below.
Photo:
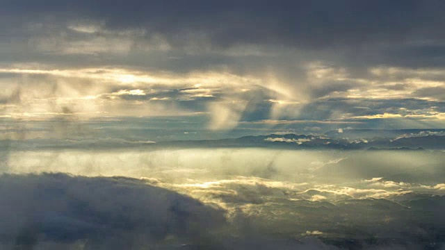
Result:
{"label": "full-width strip of hazy blue-grey distant mountains along the horizon", "polygon": [[[273,149],[341,149],[341,150],[445,150],[445,129],[329,131],[318,135],[270,134],[218,140],[179,140],[152,142],[100,138],[88,140],[10,140],[8,149],[112,149],[133,147],[261,147]],[[5,150],[3,149],[3,151]]]}

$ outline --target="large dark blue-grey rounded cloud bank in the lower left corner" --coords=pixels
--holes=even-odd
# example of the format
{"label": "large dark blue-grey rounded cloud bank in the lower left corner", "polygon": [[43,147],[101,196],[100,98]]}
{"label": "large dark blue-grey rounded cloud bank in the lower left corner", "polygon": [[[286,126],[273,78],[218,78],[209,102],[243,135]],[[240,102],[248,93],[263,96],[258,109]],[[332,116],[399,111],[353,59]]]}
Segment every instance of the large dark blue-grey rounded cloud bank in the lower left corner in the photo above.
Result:
{"label": "large dark blue-grey rounded cloud bank in the lower left corner", "polygon": [[225,223],[220,210],[131,178],[3,174],[0,179],[0,242],[16,247],[202,243]]}

